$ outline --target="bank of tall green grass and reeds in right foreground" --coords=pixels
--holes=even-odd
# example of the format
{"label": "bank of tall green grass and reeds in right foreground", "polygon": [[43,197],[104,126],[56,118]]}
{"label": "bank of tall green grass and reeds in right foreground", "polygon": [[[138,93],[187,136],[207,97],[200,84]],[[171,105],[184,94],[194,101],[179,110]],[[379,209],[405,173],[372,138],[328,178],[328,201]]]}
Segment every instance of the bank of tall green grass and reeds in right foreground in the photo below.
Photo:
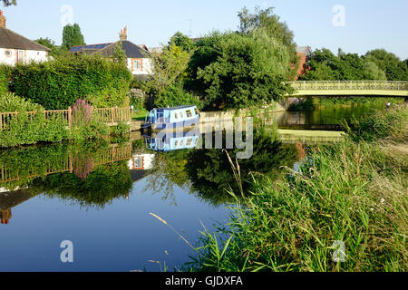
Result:
{"label": "bank of tall green grass and reeds in right foreground", "polygon": [[[203,232],[186,268],[407,271],[406,114],[404,107],[349,124],[351,138],[309,150],[298,172],[255,179],[254,196],[231,208],[228,225]],[[388,133],[379,133],[384,126]]]}

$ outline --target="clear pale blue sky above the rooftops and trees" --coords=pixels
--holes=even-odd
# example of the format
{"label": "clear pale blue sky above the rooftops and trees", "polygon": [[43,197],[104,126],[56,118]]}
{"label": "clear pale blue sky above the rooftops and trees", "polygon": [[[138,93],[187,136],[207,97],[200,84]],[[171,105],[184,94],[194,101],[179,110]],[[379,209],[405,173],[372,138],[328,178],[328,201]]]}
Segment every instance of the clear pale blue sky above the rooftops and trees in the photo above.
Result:
{"label": "clear pale blue sky above the rooftops and trees", "polygon": [[[274,6],[275,13],[295,33],[298,45],[333,52],[363,54],[384,48],[408,58],[407,0],[17,0],[5,7],[7,27],[26,37],[50,37],[62,41],[63,5],[73,7],[73,22],[81,26],[86,43],[116,41],[124,25],[129,40],[159,46],[177,31],[198,37],[211,30],[236,30],[237,12],[243,6]],[[333,24],[333,7],[345,7],[345,26]]]}

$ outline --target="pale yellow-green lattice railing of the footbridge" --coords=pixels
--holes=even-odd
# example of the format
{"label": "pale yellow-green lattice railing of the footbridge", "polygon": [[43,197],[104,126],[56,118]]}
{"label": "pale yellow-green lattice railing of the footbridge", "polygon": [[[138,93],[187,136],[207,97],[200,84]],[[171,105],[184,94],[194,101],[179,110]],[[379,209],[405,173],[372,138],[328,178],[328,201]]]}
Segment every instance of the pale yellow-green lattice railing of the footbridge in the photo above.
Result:
{"label": "pale yellow-green lattice railing of the footbridge", "polygon": [[408,91],[404,81],[300,81],[286,82],[299,91],[384,90]]}

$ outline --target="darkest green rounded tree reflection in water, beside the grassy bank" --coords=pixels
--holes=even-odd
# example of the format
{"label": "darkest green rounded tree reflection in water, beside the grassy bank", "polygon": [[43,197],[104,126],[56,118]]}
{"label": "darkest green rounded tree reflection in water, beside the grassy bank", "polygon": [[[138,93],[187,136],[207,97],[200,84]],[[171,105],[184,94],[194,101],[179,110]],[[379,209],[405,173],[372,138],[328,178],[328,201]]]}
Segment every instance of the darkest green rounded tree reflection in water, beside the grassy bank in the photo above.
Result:
{"label": "darkest green rounded tree reflection in water, beside the grassy bank", "polygon": [[[234,200],[228,193],[241,195],[251,191],[254,175],[265,175],[277,179],[292,167],[299,157],[296,145],[283,144],[276,138],[276,132],[260,128],[254,131],[254,151],[250,159],[239,160],[239,179],[233,174],[231,161],[235,163],[238,150],[193,150],[189,153],[186,167],[191,180],[191,189],[199,198],[215,206]],[[236,164],[235,164],[236,165]]]}

